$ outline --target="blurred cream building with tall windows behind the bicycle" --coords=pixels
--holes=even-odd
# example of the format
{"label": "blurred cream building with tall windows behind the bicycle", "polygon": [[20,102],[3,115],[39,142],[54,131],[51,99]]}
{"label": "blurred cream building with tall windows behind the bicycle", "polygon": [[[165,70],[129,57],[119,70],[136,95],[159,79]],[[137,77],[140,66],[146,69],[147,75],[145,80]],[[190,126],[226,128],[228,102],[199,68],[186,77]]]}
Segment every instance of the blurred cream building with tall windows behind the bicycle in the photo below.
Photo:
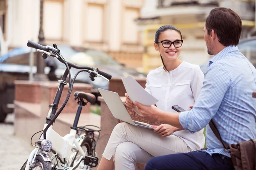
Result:
{"label": "blurred cream building with tall windows behind the bicycle", "polygon": [[[143,0],[44,0],[44,41],[102,50],[128,67],[142,67],[142,39],[134,22],[142,5]],[[38,42],[39,17],[40,0],[0,0],[0,27],[9,49]]]}

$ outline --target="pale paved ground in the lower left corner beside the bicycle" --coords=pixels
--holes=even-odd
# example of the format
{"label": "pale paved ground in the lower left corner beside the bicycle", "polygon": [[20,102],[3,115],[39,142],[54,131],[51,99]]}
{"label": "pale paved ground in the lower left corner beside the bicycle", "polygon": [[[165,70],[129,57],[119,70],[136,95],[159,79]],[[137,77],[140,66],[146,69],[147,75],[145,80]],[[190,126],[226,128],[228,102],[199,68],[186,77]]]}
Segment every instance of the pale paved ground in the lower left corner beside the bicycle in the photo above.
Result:
{"label": "pale paved ground in the lower left corner beside the bicycle", "polygon": [[14,114],[0,123],[0,170],[20,170],[33,150],[30,141],[14,136]]}

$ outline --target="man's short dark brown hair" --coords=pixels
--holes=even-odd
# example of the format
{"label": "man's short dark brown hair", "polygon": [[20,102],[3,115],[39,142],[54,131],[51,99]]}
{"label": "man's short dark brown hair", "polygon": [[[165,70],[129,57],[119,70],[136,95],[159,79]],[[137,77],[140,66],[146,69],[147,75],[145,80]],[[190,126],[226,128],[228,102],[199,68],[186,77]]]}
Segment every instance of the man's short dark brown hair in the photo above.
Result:
{"label": "man's short dark brown hair", "polygon": [[205,22],[205,28],[208,34],[214,30],[216,32],[218,41],[224,45],[238,45],[242,21],[241,18],[230,8],[218,7],[210,11],[209,16]]}

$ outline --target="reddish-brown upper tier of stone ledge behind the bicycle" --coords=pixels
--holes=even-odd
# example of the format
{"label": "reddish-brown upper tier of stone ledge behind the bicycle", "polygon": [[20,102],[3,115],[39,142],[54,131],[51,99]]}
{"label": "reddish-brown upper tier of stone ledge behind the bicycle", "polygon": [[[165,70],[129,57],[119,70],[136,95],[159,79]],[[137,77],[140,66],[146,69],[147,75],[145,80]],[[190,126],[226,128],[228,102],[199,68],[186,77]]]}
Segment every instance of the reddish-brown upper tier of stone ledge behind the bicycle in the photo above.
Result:
{"label": "reddish-brown upper tier of stone ledge behind the bicycle", "polygon": [[[76,113],[77,110],[77,101],[74,100],[75,91],[84,91],[90,93],[93,86],[84,83],[75,83],[73,85],[72,92],[70,94],[70,99],[67,102],[66,107],[62,111],[63,113]],[[56,91],[58,89],[58,82],[30,82],[23,80],[15,81],[15,100],[19,102],[28,102],[45,105],[52,104],[52,101],[55,97]],[[64,86],[64,89],[61,94],[61,99],[59,101],[58,107],[60,108],[64,100],[67,97],[68,85]],[[48,108],[49,109],[49,108]],[[44,110],[44,111],[43,111]],[[42,109],[42,112],[45,112],[45,109]],[[82,109],[82,113],[90,112],[90,103]]]}

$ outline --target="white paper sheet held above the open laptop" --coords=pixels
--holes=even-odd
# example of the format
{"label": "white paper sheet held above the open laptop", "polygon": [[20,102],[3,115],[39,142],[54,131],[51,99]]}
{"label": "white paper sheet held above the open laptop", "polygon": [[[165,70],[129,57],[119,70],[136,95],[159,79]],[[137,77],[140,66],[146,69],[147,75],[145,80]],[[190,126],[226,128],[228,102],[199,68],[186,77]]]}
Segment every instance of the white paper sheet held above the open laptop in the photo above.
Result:
{"label": "white paper sheet held above the open laptop", "polygon": [[158,100],[149,94],[145,89],[131,76],[122,78],[125,90],[132,102],[139,102],[146,106],[154,105]]}

